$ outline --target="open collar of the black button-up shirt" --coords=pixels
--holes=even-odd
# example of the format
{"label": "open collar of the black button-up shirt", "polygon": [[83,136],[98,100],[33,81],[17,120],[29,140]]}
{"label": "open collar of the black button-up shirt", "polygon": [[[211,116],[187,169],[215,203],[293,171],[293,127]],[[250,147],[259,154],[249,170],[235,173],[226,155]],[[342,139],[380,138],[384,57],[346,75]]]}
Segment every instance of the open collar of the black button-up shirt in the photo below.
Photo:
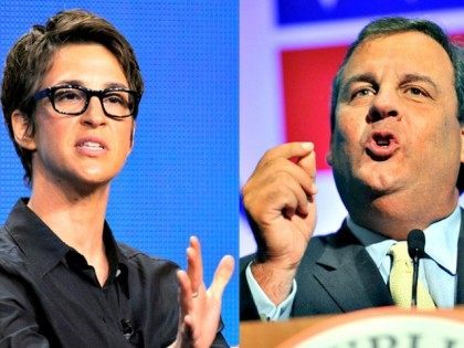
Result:
{"label": "open collar of the black button-up shirt", "polygon": [[[6,228],[17,242],[21,252],[30,260],[28,267],[40,277],[46,275],[60,262],[67,264],[70,254],[80,255],[65,244],[52,230],[27,205],[28,199],[20,199],[8,217]],[[123,289],[128,296],[127,257],[120,252],[109,225],[105,221],[103,240],[109,261],[107,282],[116,277],[124,280]],[[83,259],[83,257],[82,257]]]}

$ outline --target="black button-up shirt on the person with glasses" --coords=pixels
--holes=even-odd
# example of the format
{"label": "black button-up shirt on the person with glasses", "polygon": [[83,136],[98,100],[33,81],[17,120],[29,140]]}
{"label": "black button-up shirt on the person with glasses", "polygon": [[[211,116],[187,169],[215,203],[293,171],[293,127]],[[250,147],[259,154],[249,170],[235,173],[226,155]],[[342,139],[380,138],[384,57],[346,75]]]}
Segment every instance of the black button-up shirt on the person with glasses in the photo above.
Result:
{"label": "black button-up shirt on the person with glasses", "polygon": [[[18,201],[0,226],[0,347],[164,347],[176,339],[177,265],[117,243],[95,271]],[[226,346],[219,333],[214,346]]]}

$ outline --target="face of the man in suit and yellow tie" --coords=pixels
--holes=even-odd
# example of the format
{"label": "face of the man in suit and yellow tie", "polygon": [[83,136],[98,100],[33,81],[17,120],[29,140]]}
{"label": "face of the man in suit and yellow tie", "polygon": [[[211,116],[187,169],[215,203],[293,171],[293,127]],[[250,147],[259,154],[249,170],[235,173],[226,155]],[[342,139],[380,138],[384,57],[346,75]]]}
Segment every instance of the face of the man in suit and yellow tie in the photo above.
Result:
{"label": "face of the man in suit and yellow tie", "polygon": [[328,156],[347,207],[357,193],[453,193],[456,113],[453,66],[433,39],[412,31],[358,46],[342,73]]}

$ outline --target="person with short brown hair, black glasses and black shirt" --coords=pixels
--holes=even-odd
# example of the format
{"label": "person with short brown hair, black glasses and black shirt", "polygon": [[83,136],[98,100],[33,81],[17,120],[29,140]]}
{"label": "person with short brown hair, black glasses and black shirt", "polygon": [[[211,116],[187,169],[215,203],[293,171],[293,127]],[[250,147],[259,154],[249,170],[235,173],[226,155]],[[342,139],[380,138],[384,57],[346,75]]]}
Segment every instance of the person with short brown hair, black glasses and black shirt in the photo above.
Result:
{"label": "person with short brown hair, black glasses and black shirt", "polygon": [[197,238],[183,272],[116,243],[105,221],[143,91],[130,44],[86,11],[60,12],[11,49],[1,102],[32,192],[0,228],[0,346],[226,346],[233,259],[207,289]]}

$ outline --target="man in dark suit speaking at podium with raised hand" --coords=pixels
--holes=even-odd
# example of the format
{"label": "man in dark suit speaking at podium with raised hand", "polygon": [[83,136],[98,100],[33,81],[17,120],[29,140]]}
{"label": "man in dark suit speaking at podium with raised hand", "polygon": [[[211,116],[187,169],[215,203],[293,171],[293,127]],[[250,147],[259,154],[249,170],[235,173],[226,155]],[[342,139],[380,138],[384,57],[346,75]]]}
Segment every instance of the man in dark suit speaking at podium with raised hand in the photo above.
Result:
{"label": "man in dark suit speaking at podium with raised hand", "polygon": [[241,319],[399,305],[393,246],[413,229],[425,233],[419,278],[430,306],[464,303],[458,50],[425,20],[380,19],[360,32],[334,81],[327,155],[349,217],[337,233],[312,238],[314,146],[268,150],[243,188],[257,253],[242,261]]}

